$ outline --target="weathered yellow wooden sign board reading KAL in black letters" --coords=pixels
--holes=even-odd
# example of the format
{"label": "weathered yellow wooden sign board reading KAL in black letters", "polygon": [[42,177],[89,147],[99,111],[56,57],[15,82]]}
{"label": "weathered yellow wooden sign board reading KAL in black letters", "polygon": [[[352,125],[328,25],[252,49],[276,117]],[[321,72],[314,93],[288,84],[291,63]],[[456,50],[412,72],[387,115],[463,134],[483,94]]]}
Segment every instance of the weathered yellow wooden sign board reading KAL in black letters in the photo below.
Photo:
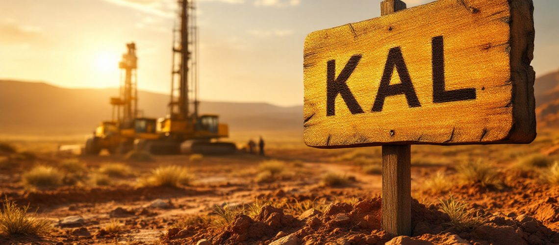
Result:
{"label": "weathered yellow wooden sign board reading KAL in black letters", "polygon": [[308,146],[529,143],[531,0],[439,0],[307,36]]}

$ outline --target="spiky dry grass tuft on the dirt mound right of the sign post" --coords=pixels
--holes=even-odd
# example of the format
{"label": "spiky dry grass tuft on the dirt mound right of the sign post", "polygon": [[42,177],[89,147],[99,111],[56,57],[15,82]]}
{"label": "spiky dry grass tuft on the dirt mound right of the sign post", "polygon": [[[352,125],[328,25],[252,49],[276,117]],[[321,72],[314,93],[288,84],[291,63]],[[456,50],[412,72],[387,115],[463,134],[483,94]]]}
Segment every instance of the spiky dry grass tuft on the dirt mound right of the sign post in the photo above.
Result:
{"label": "spiky dry grass tuft on the dirt mound right of the sign post", "polygon": [[439,210],[450,218],[449,225],[459,231],[473,230],[486,222],[486,218],[468,209],[467,203],[454,199],[451,195],[447,200],[439,199]]}

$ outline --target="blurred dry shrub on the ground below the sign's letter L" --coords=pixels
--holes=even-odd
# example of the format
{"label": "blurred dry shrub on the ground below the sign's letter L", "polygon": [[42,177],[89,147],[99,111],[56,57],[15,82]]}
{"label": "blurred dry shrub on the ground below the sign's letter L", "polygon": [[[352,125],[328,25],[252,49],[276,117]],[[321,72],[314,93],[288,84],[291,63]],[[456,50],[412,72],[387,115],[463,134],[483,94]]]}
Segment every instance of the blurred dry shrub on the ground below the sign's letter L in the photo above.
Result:
{"label": "blurred dry shrub on the ground below the sign's letter L", "polygon": [[456,167],[458,176],[462,181],[482,186],[492,186],[499,188],[503,181],[496,167],[482,161],[469,161]]}

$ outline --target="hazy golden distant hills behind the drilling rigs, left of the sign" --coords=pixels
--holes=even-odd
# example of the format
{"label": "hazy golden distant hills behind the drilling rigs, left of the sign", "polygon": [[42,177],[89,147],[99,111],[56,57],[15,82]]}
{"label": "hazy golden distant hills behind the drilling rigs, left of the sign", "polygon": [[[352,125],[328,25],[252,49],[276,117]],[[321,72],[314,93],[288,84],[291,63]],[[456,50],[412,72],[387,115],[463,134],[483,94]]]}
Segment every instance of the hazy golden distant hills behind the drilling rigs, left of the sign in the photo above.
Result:
{"label": "hazy golden distant hills behind the drilling rigs, left of the sign", "polygon": [[[89,133],[111,118],[109,98],[118,89],[67,89],[46,83],[0,80],[0,133]],[[146,117],[164,117],[168,95],[139,91]],[[219,114],[231,131],[292,131],[302,128],[302,106],[201,102],[201,113]]]}

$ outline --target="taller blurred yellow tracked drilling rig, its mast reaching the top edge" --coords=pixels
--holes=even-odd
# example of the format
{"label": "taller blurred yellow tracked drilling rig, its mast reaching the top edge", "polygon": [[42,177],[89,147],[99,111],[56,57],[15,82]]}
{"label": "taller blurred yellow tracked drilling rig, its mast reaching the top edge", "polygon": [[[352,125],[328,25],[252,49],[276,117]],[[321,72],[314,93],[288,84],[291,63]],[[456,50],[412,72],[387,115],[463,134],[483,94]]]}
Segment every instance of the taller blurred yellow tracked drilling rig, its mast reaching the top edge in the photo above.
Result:
{"label": "taller blurred yellow tracked drilling rig, its mast reaching the top edge", "polygon": [[158,140],[141,140],[136,147],[157,155],[234,153],[236,145],[221,142],[229,137],[227,124],[219,116],[200,114],[198,83],[198,28],[194,0],[178,0],[176,25],[173,28],[173,60],[168,115],[157,122]]}

